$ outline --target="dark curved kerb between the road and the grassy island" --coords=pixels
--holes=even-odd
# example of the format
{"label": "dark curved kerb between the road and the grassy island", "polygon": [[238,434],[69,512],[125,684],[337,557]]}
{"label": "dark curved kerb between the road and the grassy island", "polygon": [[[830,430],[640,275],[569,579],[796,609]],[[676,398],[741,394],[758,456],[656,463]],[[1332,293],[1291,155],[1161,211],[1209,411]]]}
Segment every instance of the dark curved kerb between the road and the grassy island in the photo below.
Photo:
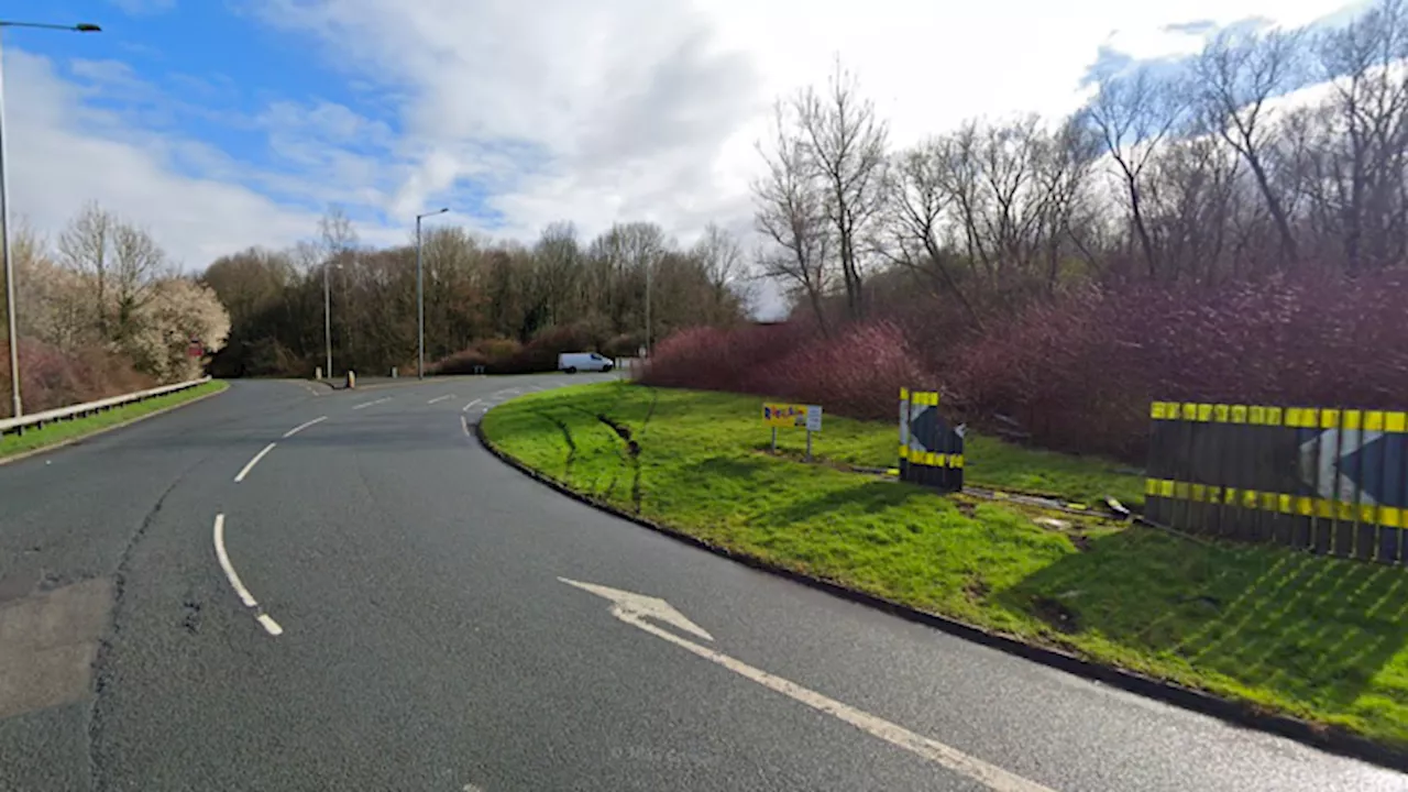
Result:
{"label": "dark curved kerb between the road and the grassy island", "polygon": [[583,495],[569,488],[567,485],[559,482],[558,479],[541,474],[528,465],[520,462],[518,459],[508,455],[505,451],[496,447],[486,435],[483,428],[483,421],[474,424],[474,438],[479,440],[479,445],[494,455],[500,462],[504,462],[510,468],[517,469],[525,476],[546,485],[567,497],[577,500],[597,509],[598,512],[605,512],[614,517],[628,520],[649,528],[655,533],[667,536],[676,541],[697,547],[700,550],[708,551],[721,558],[735,561],[745,567],[750,567],[760,572],[767,572],[780,578],[793,581],[794,583],[801,583],[807,588],[817,589],[832,596],[853,602],[856,605],[863,605],[866,607],[888,613],[891,616],[898,616],[905,621],[914,621],[928,627],[934,627],[957,638],[981,644],[986,647],[995,648],[1004,654],[1021,657],[1022,660],[1029,660],[1032,662],[1039,662],[1048,668],[1055,668],[1057,671],[1064,671],[1074,676],[1090,679],[1094,682],[1102,682],[1112,688],[1119,688],[1122,691],[1143,696],[1146,699],[1155,699],[1163,703],[1174,705],[1180,709],[1191,710],[1200,714],[1207,714],[1231,723],[1233,726],[1242,726],[1247,729],[1255,729],[1257,731],[1266,731],[1276,734],[1278,737],[1286,737],[1297,743],[1309,745],[1312,748],[1319,748],[1332,754],[1338,754],[1347,758],[1367,761],[1380,767],[1385,767],[1397,771],[1408,771],[1408,750],[1397,750],[1380,743],[1374,743],[1364,737],[1354,734],[1347,734],[1336,730],[1335,727],[1326,727],[1322,724],[1311,723],[1307,720],[1300,720],[1287,714],[1274,714],[1256,709],[1256,705],[1250,702],[1238,702],[1233,699],[1224,699],[1212,693],[1198,691],[1194,688],[1186,688],[1164,679],[1156,679],[1153,676],[1146,676],[1133,671],[1118,668],[1114,665],[1104,665],[1083,660],[1073,654],[1057,651],[1048,647],[1041,647],[1036,644],[1029,644],[1018,638],[1004,636],[983,627],[969,624],[966,621],[959,621],[957,619],[950,619],[948,616],[941,616],[938,613],[929,613],[926,610],[918,610],[907,605],[901,605],[891,599],[883,596],[866,593],[862,590],[843,586],[841,583],[825,581],[821,578],[812,578],[804,575],[787,567],[781,567],[765,558],[750,555],[746,552],[739,552],[736,550],[729,550],[727,547],[719,547],[710,544],[696,536],[687,534],[679,528],[672,528],[663,523],[656,523],[655,520],[641,517],[639,514],[632,514],[624,509],[618,509],[610,503],[597,500],[589,495]]}

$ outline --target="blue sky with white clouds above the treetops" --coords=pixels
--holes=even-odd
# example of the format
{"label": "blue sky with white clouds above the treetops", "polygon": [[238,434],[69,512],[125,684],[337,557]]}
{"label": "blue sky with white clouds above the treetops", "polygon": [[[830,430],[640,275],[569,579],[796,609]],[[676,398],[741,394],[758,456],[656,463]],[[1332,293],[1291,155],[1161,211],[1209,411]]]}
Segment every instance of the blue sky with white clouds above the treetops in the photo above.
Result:
{"label": "blue sky with white clouds above the treetops", "polygon": [[417,213],[531,241],[750,228],[776,97],[839,56],[907,145],[970,117],[1079,107],[1098,65],[1363,0],[0,0],[11,213],[54,238],[97,202],[200,271]]}

